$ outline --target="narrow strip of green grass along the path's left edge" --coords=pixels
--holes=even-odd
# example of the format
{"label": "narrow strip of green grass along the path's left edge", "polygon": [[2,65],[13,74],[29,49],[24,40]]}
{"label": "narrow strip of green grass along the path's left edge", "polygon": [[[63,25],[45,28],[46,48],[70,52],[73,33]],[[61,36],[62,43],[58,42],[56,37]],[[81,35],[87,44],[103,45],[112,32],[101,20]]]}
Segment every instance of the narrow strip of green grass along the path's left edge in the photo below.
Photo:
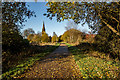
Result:
{"label": "narrow strip of green grass along the path's left edge", "polygon": [[40,54],[35,54],[34,56],[29,57],[27,60],[23,61],[21,64],[3,73],[1,75],[2,79],[11,79],[24,73],[24,71],[29,70],[29,68],[32,67],[36,61],[41,60],[44,56],[54,51],[59,45],[60,43],[56,43],[55,46],[51,46],[47,48],[44,52]]}

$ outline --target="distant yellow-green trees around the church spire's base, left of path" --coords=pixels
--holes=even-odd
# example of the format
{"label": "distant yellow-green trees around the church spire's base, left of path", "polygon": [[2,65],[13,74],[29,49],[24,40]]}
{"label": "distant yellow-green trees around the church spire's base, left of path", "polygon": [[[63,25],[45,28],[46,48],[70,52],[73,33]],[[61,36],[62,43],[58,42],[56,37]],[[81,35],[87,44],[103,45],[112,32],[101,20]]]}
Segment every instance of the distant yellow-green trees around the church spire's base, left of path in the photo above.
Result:
{"label": "distant yellow-green trees around the church spire's base, left of path", "polygon": [[32,28],[25,29],[23,31],[23,37],[29,40],[32,44],[40,44],[40,43],[48,43],[48,42],[58,42],[59,37],[55,32],[53,32],[53,36],[48,36],[46,32],[38,32],[35,33]]}

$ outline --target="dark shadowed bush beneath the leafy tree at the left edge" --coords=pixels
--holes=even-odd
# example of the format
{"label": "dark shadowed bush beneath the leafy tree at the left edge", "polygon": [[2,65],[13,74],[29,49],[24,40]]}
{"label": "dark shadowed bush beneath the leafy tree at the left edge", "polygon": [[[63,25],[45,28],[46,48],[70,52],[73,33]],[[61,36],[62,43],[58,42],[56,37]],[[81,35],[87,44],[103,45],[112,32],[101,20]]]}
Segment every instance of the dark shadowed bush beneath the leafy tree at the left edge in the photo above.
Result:
{"label": "dark shadowed bush beneath the leafy tree at the left edge", "polygon": [[2,42],[3,52],[8,52],[10,54],[19,53],[26,46],[29,46],[29,41],[23,39],[18,33],[3,34]]}

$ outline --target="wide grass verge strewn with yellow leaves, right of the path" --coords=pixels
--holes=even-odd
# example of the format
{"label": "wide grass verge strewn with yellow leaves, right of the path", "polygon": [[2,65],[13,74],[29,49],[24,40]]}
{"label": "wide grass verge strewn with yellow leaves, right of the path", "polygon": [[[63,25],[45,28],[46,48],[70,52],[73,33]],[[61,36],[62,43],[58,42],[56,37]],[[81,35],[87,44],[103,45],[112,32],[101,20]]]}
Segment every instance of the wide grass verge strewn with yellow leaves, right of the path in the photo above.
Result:
{"label": "wide grass verge strewn with yellow leaves, right of the path", "polygon": [[81,74],[85,79],[118,79],[120,62],[106,60],[83,51],[80,48],[67,44],[70,52],[74,55]]}

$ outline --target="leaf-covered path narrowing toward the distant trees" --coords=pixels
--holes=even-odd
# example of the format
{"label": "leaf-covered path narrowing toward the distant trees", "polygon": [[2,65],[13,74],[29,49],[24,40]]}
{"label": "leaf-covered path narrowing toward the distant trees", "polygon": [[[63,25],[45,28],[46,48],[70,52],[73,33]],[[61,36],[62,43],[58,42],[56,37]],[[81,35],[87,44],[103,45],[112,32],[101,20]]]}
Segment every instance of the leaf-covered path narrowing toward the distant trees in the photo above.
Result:
{"label": "leaf-covered path narrowing toward the distant trees", "polygon": [[37,61],[30,71],[19,78],[81,78],[80,70],[69,53],[68,47],[61,44],[45,59]]}

